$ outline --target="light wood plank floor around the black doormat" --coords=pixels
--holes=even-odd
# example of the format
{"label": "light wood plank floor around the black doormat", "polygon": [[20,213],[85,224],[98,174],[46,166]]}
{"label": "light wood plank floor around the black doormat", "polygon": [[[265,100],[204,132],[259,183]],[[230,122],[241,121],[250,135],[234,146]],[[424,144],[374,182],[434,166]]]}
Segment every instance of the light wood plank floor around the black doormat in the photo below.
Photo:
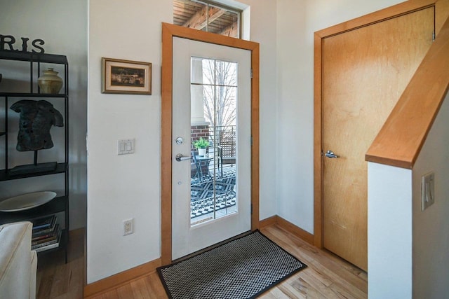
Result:
{"label": "light wood plank floor around the black doormat", "polygon": [[[367,298],[368,276],[363,270],[337,256],[316,249],[283,230],[278,225],[262,228],[261,232],[283,249],[299,258],[308,267],[260,298]],[[83,230],[71,235],[69,263],[64,254],[39,256],[37,298],[82,298],[84,284]],[[58,253],[59,254],[59,253]],[[95,299],[167,298],[156,272],[107,291]]]}

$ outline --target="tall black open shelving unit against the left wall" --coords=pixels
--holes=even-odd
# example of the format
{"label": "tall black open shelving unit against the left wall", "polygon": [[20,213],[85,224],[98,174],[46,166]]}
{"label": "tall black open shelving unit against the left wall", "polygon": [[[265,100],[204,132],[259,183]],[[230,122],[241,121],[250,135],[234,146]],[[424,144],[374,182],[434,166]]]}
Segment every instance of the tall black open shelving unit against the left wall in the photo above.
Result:
{"label": "tall black open shelving unit against the left wall", "polygon": [[[29,52],[20,52],[20,51],[12,51],[12,50],[0,50],[0,60],[15,60],[27,62],[29,74],[24,74],[25,78],[28,77],[28,84],[24,84],[24,88],[22,92],[0,92],[0,99],[3,100],[1,102],[4,108],[4,130],[5,132],[0,132],[0,136],[2,134],[8,136],[11,132],[8,129],[8,97],[21,97],[21,98],[34,98],[34,99],[46,99],[53,98],[58,102],[59,99],[63,100],[64,103],[64,112],[63,118],[65,122],[65,137],[64,140],[61,141],[59,149],[62,153],[64,153],[65,158],[56,163],[55,170],[52,171],[44,171],[44,172],[35,172],[36,167],[20,167],[17,169],[11,169],[9,167],[9,163],[11,162],[11,158],[8,157],[8,138],[1,139],[4,142],[4,160],[5,160],[5,169],[0,170],[0,182],[1,181],[12,181],[19,180],[25,178],[32,178],[36,176],[48,176],[52,174],[63,174],[64,175],[64,183],[63,186],[57,187],[62,188],[64,190],[64,195],[55,197],[50,202],[43,204],[39,207],[34,207],[32,209],[27,209],[25,211],[14,211],[14,212],[5,212],[0,211],[0,225],[4,223],[11,223],[17,221],[29,221],[32,218],[49,216],[52,214],[64,213],[64,230],[61,232],[61,239],[58,248],[48,249],[46,251],[40,251],[40,253],[48,253],[53,251],[58,251],[61,249],[65,250],[65,262],[67,263],[67,243],[69,242],[69,64],[67,61],[67,57],[65,55],[55,55],[55,54],[46,54],[46,53],[29,53]],[[58,94],[46,94],[39,93],[39,88],[36,90],[37,81],[39,81],[39,74],[41,73],[41,67],[43,63],[48,64],[60,64],[64,66],[64,76],[62,78],[64,82],[64,88],[62,93]],[[25,65],[24,64],[24,65]],[[13,64],[11,64],[13,65]],[[4,77],[7,71],[3,71]],[[37,76],[36,76],[37,74]],[[29,86],[29,92],[25,85]],[[37,91],[37,92],[36,92]],[[56,100],[58,99],[58,100]],[[62,111],[61,111],[62,112]],[[35,158],[36,160],[36,155]],[[55,158],[58,160],[58,158]],[[30,161],[31,162],[31,161]],[[41,165],[41,169],[51,169],[49,167],[52,162],[49,162],[48,165]],[[23,166],[23,165],[18,165]],[[53,167],[53,165],[51,165]],[[62,223],[60,223],[62,224]]]}

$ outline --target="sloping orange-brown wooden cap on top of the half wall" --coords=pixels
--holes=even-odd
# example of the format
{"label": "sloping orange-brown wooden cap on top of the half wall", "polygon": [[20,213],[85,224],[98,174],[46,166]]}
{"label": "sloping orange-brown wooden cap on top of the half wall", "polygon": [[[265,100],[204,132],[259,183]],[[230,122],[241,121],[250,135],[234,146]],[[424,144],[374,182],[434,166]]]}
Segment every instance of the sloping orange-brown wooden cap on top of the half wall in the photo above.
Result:
{"label": "sloping orange-brown wooden cap on top of the half wall", "polygon": [[449,87],[449,18],[366,153],[365,160],[412,169]]}

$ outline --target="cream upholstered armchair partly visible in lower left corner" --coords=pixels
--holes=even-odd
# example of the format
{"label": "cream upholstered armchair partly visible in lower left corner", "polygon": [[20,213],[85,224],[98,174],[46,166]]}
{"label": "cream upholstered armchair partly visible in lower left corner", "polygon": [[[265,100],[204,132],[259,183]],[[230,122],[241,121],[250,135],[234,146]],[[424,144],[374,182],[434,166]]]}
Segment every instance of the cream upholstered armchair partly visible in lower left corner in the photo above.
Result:
{"label": "cream upholstered armchair partly visible in lower left corner", "polygon": [[31,250],[32,223],[0,225],[0,297],[36,298],[36,251]]}

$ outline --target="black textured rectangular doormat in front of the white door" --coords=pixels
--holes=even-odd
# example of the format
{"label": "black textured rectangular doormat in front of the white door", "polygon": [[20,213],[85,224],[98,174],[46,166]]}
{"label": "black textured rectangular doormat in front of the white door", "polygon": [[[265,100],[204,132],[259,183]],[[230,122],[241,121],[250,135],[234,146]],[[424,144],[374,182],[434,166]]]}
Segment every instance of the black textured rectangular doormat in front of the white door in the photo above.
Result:
{"label": "black textured rectangular doormat in front of the white door", "polygon": [[259,230],[157,268],[169,298],[255,298],[307,265]]}

